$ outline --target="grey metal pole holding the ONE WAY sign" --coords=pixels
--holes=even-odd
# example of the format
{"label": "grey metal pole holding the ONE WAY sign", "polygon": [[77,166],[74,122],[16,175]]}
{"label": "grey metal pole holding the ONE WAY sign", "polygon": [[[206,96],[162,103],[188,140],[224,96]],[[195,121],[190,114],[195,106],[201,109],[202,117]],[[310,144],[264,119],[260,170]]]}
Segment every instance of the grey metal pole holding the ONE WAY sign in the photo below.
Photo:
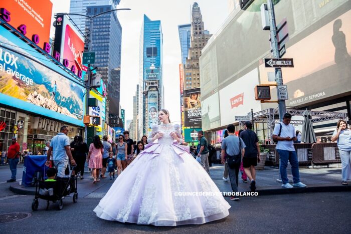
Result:
{"label": "grey metal pole holding the ONE WAY sign", "polygon": [[[269,26],[270,26],[270,33],[271,33],[273,58],[279,59],[280,57],[279,57],[278,41],[276,38],[277,26],[275,23],[274,6],[273,6],[272,0],[267,0],[267,5],[268,5]],[[276,78],[277,85],[283,85],[281,68],[275,68],[274,70],[275,70],[275,78]],[[277,89],[277,95],[278,95],[278,89]],[[279,119],[280,121],[283,121],[283,116],[286,112],[285,100],[278,100],[278,109],[279,109]]]}

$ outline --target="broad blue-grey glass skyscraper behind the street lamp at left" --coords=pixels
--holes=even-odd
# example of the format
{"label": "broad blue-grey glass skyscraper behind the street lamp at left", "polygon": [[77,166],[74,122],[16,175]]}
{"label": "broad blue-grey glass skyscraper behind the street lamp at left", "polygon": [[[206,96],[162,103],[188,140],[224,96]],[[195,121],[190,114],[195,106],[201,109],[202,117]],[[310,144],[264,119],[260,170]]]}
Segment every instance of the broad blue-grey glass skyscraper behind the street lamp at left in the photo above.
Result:
{"label": "broad blue-grey glass skyscraper behind the street lamp at left", "polygon": [[[120,0],[72,0],[70,13],[95,16],[97,14],[114,10]],[[84,32],[90,29],[90,21],[84,17],[72,15],[73,21]],[[88,31],[87,31],[88,32]],[[120,65],[122,27],[116,12],[103,14],[93,19],[91,48],[95,52],[95,64],[98,73],[107,87],[106,117],[112,127],[121,122],[119,116],[120,94]]]}

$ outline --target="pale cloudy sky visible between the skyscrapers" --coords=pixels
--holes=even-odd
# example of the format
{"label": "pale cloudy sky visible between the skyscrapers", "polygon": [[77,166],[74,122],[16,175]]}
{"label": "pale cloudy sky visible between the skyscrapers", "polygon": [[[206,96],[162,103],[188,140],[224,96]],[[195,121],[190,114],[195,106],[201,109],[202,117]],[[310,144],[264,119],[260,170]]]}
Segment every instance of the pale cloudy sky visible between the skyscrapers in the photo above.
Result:
{"label": "pale cloudy sky visible between the skyscrapers", "polygon": [[[69,12],[70,0],[51,0],[53,14]],[[228,17],[227,0],[198,0],[205,29],[217,32]],[[121,106],[125,118],[133,117],[133,96],[139,76],[139,39],[143,14],[151,20],[160,20],[163,33],[163,81],[165,108],[172,122],[180,121],[179,64],[182,62],[178,25],[191,22],[193,0],[122,0],[117,8],[131,11],[118,12],[122,25]],[[53,29],[52,29],[53,30]],[[52,31],[53,32],[53,31]],[[53,34],[53,33],[52,33]]]}

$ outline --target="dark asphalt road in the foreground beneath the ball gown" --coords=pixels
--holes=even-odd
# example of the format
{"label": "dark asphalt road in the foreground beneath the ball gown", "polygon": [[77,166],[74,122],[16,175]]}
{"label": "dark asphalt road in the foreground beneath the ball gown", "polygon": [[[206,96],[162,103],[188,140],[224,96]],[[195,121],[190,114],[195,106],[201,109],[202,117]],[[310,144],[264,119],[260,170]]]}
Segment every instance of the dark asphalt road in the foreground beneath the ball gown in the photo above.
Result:
{"label": "dark asphalt road in the foreground beneath the ball gown", "polygon": [[[228,199],[228,198],[226,198]],[[350,233],[351,196],[349,192],[300,193],[244,197],[229,201],[230,215],[203,225],[162,227],[106,221],[95,216],[98,198],[71,197],[57,210],[39,201],[32,211],[33,196],[0,198],[0,214],[28,212],[26,219],[0,223],[2,233]]]}

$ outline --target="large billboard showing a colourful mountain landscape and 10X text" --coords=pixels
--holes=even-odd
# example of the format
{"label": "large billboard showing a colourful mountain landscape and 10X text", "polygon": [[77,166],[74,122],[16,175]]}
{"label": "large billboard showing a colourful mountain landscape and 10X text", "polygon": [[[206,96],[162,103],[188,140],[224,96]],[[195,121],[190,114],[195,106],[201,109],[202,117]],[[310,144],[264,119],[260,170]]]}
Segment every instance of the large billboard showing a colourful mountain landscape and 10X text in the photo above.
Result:
{"label": "large billboard showing a colourful mountain landscape and 10X text", "polygon": [[0,77],[0,104],[84,126],[84,86],[2,26]]}

